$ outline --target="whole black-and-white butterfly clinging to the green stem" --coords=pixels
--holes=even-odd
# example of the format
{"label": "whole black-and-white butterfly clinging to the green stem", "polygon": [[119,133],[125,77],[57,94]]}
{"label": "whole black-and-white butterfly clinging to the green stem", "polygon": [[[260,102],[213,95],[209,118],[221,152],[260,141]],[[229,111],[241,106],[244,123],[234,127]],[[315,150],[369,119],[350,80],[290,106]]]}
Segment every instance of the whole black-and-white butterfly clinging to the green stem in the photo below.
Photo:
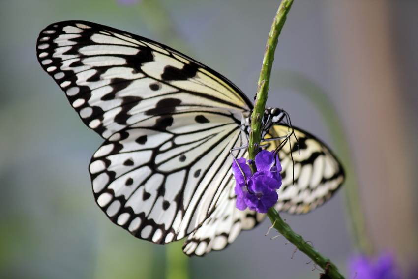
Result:
{"label": "whole black-and-white butterfly clinging to the green stem", "polygon": [[[157,244],[187,237],[184,253],[202,256],[263,220],[235,207],[230,150],[248,156],[237,148],[248,144],[253,105],[228,79],[163,44],[86,21],[51,24],[36,50],[84,124],[104,139],[89,171],[96,203],[112,222]],[[288,135],[277,111],[266,110],[266,139]],[[279,151],[275,208],[300,214],[329,199],[345,175],[323,142],[293,132],[299,143],[288,137]]]}

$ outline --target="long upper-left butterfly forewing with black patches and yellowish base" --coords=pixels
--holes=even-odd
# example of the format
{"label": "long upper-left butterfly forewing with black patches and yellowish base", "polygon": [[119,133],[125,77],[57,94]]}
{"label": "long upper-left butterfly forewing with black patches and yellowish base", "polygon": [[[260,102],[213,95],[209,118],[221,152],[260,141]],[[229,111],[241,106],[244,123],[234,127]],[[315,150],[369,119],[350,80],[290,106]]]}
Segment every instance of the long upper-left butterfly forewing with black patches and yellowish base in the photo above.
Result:
{"label": "long upper-left butterfly forewing with black patches and yellowish base", "polygon": [[41,32],[37,56],[83,122],[103,138],[154,115],[251,103],[208,67],[149,39],[83,21]]}

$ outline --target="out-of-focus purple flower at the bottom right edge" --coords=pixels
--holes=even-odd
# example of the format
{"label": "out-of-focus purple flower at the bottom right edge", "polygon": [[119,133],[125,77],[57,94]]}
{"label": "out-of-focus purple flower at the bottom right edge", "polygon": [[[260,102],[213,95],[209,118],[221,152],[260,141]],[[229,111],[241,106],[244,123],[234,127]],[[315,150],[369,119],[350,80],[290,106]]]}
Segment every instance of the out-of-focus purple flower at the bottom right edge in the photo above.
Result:
{"label": "out-of-focus purple flower at the bottom right edge", "polygon": [[[349,278],[356,279],[401,279],[400,269],[392,253],[381,254],[378,259],[360,255],[348,261]],[[357,275],[356,275],[357,272]]]}

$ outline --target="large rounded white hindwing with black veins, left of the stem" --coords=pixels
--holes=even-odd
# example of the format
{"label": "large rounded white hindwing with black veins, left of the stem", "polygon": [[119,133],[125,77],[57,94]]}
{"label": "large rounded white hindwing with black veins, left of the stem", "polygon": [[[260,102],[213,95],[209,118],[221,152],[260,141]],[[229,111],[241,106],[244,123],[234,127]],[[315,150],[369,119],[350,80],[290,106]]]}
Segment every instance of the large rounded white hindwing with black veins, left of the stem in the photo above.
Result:
{"label": "large rounded white hindwing with black veins, left of the stem", "polygon": [[193,115],[172,115],[173,124],[164,131],[147,125],[149,120],[135,124],[112,135],[91,159],[97,204],[136,237],[179,240],[229,191],[229,150],[241,146],[245,134],[226,123],[229,117],[202,113],[208,122],[197,125]]}

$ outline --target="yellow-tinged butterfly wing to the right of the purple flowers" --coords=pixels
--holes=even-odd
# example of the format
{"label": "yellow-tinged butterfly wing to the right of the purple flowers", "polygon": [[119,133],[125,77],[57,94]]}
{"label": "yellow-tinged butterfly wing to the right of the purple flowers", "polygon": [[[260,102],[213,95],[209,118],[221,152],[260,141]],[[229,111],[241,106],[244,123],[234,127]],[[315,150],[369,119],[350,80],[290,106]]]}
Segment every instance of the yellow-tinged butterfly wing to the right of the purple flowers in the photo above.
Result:
{"label": "yellow-tinged butterfly wing to the right of the purple flowers", "polygon": [[[307,213],[328,200],[344,181],[344,169],[329,148],[315,136],[295,128],[295,135],[283,145],[279,152],[282,166],[282,186],[277,190],[278,212],[290,214]],[[274,125],[270,129],[273,137],[286,136],[289,128]],[[269,149],[275,148],[278,142]]]}

